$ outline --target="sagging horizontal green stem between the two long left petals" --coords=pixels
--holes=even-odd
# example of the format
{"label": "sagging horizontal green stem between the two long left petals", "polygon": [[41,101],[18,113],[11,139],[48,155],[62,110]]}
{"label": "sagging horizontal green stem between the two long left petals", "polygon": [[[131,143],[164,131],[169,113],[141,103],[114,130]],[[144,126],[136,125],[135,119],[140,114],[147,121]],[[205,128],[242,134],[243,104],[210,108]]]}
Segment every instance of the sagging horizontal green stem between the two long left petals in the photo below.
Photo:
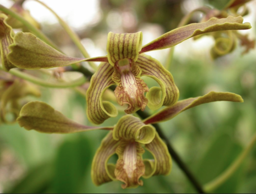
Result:
{"label": "sagging horizontal green stem between the two long left petals", "polygon": [[[0,66],[0,70],[3,70],[3,68],[1,66]],[[8,73],[10,73],[18,78],[22,78],[26,81],[29,81],[33,84],[37,84],[37,85],[40,85],[43,87],[48,87],[48,88],[73,88],[73,87],[80,86],[86,82],[86,78],[84,76],[73,81],[73,82],[50,83],[50,82],[46,82],[42,79],[35,78],[31,75],[28,75],[24,72],[21,72],[19,70],[15,70],[15,69],[10,70]]]}

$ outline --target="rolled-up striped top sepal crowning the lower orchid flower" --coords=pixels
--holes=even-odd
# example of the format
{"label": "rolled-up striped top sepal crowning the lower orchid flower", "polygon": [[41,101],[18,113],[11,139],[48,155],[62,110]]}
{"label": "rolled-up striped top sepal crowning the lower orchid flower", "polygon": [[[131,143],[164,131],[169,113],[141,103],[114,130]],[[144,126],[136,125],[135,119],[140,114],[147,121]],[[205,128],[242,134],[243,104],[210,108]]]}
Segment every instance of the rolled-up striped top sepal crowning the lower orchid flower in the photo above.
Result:
{"label": "rolled-up striped top sepal crowning the lower orchid flower", "polygon": [[156,130],[151,125],[145,125],[135,116],[123,116],[117,123],[113,131],[113,138],[130,139],[140,143],[150,143],[156,136]]}

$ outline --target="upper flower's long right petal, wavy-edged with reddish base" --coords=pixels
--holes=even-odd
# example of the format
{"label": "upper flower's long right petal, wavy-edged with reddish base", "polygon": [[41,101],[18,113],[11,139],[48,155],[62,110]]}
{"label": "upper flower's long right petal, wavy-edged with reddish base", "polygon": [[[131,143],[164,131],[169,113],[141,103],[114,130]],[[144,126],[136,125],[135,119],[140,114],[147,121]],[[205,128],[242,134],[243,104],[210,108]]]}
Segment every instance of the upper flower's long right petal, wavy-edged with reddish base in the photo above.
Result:
{"label": "upper flower's long right petal, wavy-edged with reddish base", "polygon": [[167,32],[147,45],[144,45],[140,53],[170,48],[186,39],[203,33],[223,30],[246,30],[250,28],[250,23],[243,23],[242,16],[236,18],[229,16],[224,19],[211,18],[207,22],[194,23]]}

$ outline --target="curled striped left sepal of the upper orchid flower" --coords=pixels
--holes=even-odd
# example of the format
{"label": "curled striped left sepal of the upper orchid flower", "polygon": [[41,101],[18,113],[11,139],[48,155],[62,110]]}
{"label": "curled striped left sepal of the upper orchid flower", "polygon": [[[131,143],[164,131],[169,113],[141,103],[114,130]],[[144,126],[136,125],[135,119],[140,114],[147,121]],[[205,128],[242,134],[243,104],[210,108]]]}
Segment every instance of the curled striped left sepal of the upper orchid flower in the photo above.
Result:
{"label": "curled striped left sepal of the upper orchid flower", "polygon": [[114,84],[113,71],[109,63],[101,63],[92,76],[90,87],[86,92],[87,116],[92,123],[101,124],[109,117],[118,116],[115,106],[102,100],[105,90]]}

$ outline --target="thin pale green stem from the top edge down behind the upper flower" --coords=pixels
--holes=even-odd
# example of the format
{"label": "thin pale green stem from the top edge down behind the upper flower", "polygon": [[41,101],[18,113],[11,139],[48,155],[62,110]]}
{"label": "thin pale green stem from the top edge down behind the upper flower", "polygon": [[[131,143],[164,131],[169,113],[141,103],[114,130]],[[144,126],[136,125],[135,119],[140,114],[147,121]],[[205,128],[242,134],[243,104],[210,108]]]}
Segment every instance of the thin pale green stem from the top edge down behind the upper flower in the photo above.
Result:
{"label": "thin pale green stem from the top edge down behind the upper flower", "polygon": [[[72,31],[72,29],[66,24],[66,22],[59,17],[57,13],[55,13],[49,6],[47,6],[45,3],[39,1],[39,0],[34,0],[41,4],[42,6],[45,6],[50,12],[53,13],[53,15],[59,20],[59,24],[66,30],[70,38],[72,39],[73,43],[78,47],[80,52],[84,55],[85,58],[90,58],[90,55],[86,51],[85,47],[81,44],[81,41],[79,39],[79,36]],[[88,62],[89,65],[96,71],[97,70],[97,65],[93,62]]]}

